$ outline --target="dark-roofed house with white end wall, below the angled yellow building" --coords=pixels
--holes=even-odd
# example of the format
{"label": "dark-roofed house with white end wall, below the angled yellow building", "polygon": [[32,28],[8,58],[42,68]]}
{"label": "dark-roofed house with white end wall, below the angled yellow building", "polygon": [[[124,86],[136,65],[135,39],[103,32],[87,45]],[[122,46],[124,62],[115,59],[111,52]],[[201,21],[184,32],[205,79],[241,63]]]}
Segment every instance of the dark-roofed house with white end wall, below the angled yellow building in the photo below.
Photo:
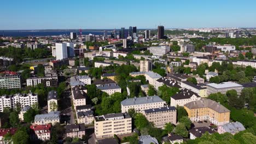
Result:
{"label": "dark-roofed house with white end wall, below the angled yellow building", "polygon": [[197,137],[201,137],[203,134],[208,131],[209,134],[216,133],[216,131],[213,128],[208,127],[199,127],[199,128],[193,128],[189,130],[189,135],[191,140],[195,140]]}

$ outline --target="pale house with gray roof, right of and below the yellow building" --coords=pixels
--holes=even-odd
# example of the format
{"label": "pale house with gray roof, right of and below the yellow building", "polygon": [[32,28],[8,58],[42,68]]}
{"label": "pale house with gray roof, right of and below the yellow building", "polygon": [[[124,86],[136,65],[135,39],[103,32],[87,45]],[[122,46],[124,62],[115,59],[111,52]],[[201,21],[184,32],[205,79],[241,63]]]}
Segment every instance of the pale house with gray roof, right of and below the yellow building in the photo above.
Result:
{"label": "pale house with gray roof, right of and below the yellow building", "polygon": [[243,131],[243,130],[246,130],[246,129],[245,127],[243,127],[243,124],[241,124],[240,122],[226,123],[218,126],[219,134],[230,133],[232,135],[235,135],[239,131]]}

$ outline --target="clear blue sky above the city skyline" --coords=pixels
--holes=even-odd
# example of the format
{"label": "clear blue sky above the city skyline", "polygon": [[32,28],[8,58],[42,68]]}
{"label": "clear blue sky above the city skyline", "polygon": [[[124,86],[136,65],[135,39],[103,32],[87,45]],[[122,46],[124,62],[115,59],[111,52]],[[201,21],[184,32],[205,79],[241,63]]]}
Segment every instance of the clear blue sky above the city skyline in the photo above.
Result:
{"label": "clear blue sky above the city skyline", "polygon": [[5,0],[0,29],[256,27],[255,0]]}

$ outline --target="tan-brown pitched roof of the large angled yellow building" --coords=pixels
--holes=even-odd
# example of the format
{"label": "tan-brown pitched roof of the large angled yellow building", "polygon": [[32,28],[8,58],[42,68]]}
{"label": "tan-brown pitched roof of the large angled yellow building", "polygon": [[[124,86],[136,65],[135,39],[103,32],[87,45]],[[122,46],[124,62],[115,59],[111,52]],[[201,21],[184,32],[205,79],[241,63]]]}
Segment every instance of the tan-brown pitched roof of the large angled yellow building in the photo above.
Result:
{"label": "tan-brown pitched roof of the large angled yellow building", "polygon": [[188,109],[200,109],[203,107],[209,107],[210,109],[217,111],[219,113],[230,112],[230,110],[226,109],[226,107],[211,99],[201,98],[200,100],[191,101],[190,103],[185,104],[184,106],[188,107]]}

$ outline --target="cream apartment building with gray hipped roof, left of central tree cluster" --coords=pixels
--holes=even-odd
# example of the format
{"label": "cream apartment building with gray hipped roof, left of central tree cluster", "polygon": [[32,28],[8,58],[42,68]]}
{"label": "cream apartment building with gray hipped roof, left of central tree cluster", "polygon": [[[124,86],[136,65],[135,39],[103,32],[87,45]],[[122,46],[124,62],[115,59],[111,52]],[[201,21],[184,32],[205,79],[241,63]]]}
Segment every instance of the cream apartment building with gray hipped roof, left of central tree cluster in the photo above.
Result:
{"label": "cream apartment building with gray hipped roof, left of central tree cluster", "polygon": [[108,95],[113,93],[121,93],[121,87],[117,83],[109,83],[105,85],[97,86],[97,89],[100,89],[102,92],[106,92]]}

